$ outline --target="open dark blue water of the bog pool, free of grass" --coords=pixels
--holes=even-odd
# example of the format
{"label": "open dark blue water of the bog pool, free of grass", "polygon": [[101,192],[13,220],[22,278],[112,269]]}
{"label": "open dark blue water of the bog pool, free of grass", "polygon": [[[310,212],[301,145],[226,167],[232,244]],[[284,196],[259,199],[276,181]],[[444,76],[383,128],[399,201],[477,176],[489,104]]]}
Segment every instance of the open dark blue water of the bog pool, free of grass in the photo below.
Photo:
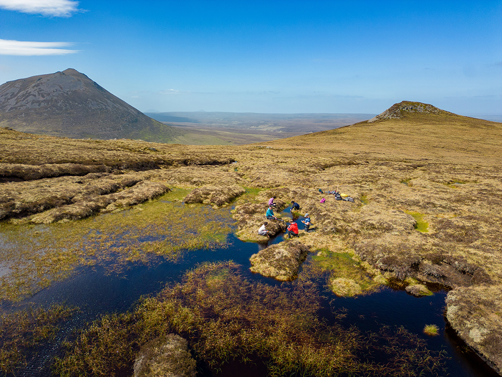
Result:
{"label": "open dark blue water of the bog pool, free of grass", "polygon": [[[282,236],[273,238],[269,243],[277,243]],[[72,333],[73,328],[82,327],[104,313],[125,312],[143,295],[159,292],[167,282],[180,279],[187,269],[206,261],[233,260],[243,266],[242,271],[249,280],[267,284],[279,284],[273,279],[264,278],[249,272],[249,256],[261,247],[256,243],[245,243],[228,236],[229,246],[215,250],[198,250],[187,253],[180,263],[159,262],[155,267],[130,265],[120,274],[106,275],[103,267],[85,268],[73,277],[57,282],[42,290],[29,300],[30,303],[49,307],[52,304],[77,306],[81,313],[74,316],[63,329],[56,341],[46,344],[31,357],[28,365],[19,370],[17,376],[50,376],[50,363],[54,356],[61,355],[60,341]],[[496,376],[479,358],[467,352],[454,332],[446,328],[444,321],[445,292],[437,292],[431,297],[415,298],[404,291],[383,289],[379,293],[358,298],[338,298],[326,293],[326,300],[319,315],[329,322],[334,320],[333,313],[344,310],[346,316],[341,320],[347,326],[355,325],[363,331],[378,331],[382,326],[403,326],[412,333],[427,339],[431,350],[444,349],[449,358],[444,361],[444,375],[455,377],[491,377]],[[4,308],[7,309],[7,308]],[[427,337],[422,334],[424,324],[435,324],[440,335]],[[224,365],[218,374],[210,370],[200,375],[253,375],[265,376],[266,368],[258,362],[254,365],[233,362]]]}

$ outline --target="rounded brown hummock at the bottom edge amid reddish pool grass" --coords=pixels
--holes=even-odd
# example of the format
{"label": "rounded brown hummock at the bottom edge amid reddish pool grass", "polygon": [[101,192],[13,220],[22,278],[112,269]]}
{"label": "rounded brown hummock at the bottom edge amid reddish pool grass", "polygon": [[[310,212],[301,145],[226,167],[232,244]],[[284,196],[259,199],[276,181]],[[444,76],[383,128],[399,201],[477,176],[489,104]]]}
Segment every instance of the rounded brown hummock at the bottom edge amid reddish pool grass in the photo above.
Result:
{"label": "rounded brown hummock at the bottom edge amid reddish pool grass", "polygon": [[141,348],[134,362],[134,377],[195,377],[195,366],[187,341],[168,334]]}

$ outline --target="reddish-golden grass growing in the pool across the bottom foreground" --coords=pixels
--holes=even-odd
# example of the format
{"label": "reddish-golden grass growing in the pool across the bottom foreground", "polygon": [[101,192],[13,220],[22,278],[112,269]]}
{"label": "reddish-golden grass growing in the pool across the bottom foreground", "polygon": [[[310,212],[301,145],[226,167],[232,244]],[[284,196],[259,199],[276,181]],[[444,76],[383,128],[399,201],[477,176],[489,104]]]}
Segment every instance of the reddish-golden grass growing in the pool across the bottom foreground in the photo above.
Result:
{"label": "reddish-golden grass growing in the pool across the bottom foreground", "polygon": [[[138,348],[175,331],[189,340],[197,360],[215,370],[258,356],[272,376],[440,372],[443,355],[405,329],[361,333],[326,325],[316,315],[321,297],[312,282],[272,287],[243,279],[239,269],[232,262],[201,265],[134,313],[103,317],[68,345],[55,370],[62,376],[112,375],[131,364]],[[112,362],[102,357],[110,352]],[[382,360],[366,357],[373,352]]]}

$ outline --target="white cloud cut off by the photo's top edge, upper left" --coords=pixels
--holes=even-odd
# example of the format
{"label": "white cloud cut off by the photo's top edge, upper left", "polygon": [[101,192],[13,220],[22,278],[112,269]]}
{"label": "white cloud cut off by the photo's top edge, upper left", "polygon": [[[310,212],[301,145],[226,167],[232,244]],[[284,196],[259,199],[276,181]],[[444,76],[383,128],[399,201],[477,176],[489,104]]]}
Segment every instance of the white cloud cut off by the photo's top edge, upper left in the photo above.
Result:
{"label": "white cloud cut off by the photo's top edge, upper left", "polygon": [[0,0],[0,8],[42,16],[71,17],[79,2],[71,0]]}

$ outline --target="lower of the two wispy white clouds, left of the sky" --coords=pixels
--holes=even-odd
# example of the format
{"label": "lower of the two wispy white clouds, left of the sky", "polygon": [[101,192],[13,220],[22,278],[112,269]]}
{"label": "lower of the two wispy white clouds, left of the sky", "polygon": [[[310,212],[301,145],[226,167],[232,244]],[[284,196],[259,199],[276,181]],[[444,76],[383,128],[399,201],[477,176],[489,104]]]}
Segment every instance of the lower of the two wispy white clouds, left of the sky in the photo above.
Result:
{"label": "lower of the two wispy white clouds, left of the sky", "polygon": [[79,51],[58,48],[69,47],[71,45],[72,43],[69,42],[27,42],[0,39],[0,55],[66,55]]}

